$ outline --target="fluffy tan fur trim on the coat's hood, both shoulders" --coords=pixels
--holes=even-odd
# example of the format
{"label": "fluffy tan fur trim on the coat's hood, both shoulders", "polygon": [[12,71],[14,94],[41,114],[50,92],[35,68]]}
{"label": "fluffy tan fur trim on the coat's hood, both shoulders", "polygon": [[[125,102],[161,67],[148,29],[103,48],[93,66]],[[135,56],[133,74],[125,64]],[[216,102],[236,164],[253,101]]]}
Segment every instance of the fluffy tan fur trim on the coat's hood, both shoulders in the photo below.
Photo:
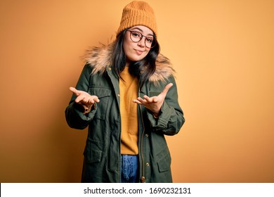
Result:
{"label": "fluffy tan fur trim on the coat's hood, both shoulders", "polygon": [[[107,67],[112,65],[113,50],[114,44],[112,43],[100,47],[94,46],[87,51],[85,61],[93,68],[92,74],[97,72],[103,73]],[[174,76],[174,74],[175,70],[172,68],[169,58],[160,53],[156,60],[156,70],[149,81],[157,84],[157,82],[166,81],[171,75]]]}

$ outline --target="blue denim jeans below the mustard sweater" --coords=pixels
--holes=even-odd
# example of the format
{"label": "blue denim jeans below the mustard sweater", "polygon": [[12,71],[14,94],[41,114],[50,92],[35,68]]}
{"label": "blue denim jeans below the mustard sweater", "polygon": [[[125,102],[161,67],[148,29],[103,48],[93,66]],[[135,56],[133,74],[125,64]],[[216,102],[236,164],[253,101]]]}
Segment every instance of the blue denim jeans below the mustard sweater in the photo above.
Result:
{"label": "blue denim jeans below the mustard sweater", "polygon": [[138,182],[139,160],[138,155],[121,155],[121,182]]}

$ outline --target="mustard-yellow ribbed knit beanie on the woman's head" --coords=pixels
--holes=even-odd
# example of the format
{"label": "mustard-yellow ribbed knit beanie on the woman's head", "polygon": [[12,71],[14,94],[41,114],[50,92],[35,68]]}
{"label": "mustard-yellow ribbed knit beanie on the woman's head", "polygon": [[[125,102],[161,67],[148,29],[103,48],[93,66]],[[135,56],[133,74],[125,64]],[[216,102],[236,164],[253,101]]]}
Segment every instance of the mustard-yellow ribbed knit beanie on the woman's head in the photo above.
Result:
{"label": "mustard-yellow ribbed knit beanie on the woman's head", "polygon": [[144,25],[150,28],[157,37],[157,25],[154,11],[148,3],[144,1],[132,1],[124,7],[117,35],[126,28],[135,25]]}

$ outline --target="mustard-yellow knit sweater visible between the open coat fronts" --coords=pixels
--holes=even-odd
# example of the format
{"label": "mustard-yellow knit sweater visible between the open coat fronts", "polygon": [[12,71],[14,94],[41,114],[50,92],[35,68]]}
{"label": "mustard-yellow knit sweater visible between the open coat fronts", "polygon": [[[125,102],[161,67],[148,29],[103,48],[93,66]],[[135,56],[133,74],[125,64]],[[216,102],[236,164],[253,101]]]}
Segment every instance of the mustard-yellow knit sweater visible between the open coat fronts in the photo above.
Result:
{"label": "mustard-yellow knit sweater visible between the open coat fronts", "polygon": [[138,155],[138,115],[137,104],[133,99],[138,96],[138,79],[129,74],[126,67],[121,72],[119,81],[121,113],[121,154]]}

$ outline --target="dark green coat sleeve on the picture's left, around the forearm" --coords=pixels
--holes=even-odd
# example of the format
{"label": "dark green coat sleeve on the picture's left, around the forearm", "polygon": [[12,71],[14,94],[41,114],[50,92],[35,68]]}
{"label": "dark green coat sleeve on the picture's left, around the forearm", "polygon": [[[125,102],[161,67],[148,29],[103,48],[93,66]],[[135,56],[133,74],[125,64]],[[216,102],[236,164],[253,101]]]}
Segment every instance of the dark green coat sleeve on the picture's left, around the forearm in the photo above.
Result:
{"label": "dark green coat sleeve on the picture's left, around the forearm", "polygon": [[[79,80],[76,85],[76,89],[81,91],[89,90],[89,80],[91,77],[91,67],[86,64],[84,69],[81,72]],[[85,129],[96,113],[97,108],[93,108],[90,113],[84,114],[84,108],[78,103],[75,103],[74,100],[77,98],[74,94],[70,99],[70,103],[65,109],[65,118],[67,120],[67,125],[74,129]],[[95,104],[96,105],[96,104]]]}

